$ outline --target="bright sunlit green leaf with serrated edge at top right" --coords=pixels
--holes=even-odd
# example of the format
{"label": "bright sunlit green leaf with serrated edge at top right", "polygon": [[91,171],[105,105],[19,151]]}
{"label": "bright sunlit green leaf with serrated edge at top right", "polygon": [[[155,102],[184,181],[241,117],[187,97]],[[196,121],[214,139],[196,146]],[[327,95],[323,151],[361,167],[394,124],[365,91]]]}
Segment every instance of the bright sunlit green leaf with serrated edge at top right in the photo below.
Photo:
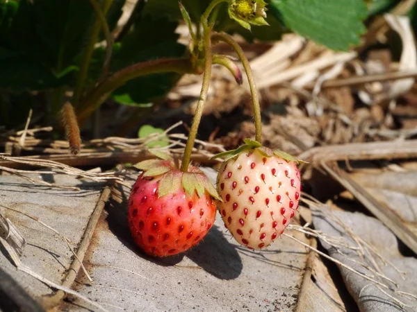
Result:
{"label": "bright sunlit green leaf with serrated edge at top right", "polygon": [[366,31],[363,0],[270,0],[268,8],[288,28],[334,50],[359,44]]}

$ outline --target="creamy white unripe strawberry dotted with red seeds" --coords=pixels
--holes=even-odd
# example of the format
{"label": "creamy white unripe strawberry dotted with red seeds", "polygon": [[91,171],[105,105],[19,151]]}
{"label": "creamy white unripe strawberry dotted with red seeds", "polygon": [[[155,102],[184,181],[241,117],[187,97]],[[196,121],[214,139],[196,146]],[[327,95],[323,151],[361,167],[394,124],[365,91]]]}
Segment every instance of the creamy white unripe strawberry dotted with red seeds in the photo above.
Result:
{"label": "creamy white unripe strawberry dotted with red seeds", "polygon": [[280,236],[294,217],[301,181],[297,159],[245,140],[237,150],[218,155],[227,159],[218,174],[224,226],[238,243],[261,249]]}

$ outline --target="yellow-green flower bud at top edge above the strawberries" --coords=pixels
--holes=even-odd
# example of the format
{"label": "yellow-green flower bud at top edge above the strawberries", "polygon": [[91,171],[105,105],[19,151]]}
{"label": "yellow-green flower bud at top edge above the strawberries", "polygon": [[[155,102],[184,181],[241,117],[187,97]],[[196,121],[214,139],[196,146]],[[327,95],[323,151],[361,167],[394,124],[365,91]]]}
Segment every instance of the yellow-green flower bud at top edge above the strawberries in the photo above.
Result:
{"label": "yellow-green flower bud at top edge above the strawberries", "polygon": [[266,2],[263,0],[230,0],[229,16],[250,30],[250,24],[268,25],[265,21]]}

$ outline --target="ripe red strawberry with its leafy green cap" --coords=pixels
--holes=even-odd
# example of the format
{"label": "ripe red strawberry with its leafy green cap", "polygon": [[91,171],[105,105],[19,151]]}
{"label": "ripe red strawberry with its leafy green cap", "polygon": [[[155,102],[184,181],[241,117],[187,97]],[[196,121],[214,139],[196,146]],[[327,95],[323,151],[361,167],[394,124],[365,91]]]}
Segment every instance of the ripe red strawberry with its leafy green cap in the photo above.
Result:
{"label": "ripe red strawberry with its leafy green cap", "polygon": [[215,221],[218,198],[213,184],[197,167],[183,173],[174,160],[161,159],[136,164],[142,173],[129,198],[129,229],[136,244],[158,257],[184,252],[197,245]]}

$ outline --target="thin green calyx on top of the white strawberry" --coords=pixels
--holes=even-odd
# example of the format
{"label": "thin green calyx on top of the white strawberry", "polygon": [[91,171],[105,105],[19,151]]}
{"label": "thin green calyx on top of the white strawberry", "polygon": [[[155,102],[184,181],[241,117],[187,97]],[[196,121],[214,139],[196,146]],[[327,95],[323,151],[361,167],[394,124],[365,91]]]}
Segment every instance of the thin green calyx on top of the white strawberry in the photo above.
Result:
{"label": "thin green calyx on top of the white strawberry", "polygon": [[271,150],[270,148],[262,146],[262,144],[258,141],[252,139],[244,139],[243,141],[245,142],[245,144],[239,146],[238,148],[236,148],[236,150],[228,150],[227,152],[218,153],[217,155],[214,155],[211,158],[224,158],[224,161],[227,161],[229,159],[237,157],[238,155],[240,155],[240,153],[245,153],[250,150],[258,150],[259,153],[261,153],[261,155],[265,157],[272,157],[275,155],[277,157],[281,157],[286,162],[296,162],[297,164],[300,164],[300,162],[305,163],[303,160],[297,159],[293,155],[288,154],[283,150]]}

